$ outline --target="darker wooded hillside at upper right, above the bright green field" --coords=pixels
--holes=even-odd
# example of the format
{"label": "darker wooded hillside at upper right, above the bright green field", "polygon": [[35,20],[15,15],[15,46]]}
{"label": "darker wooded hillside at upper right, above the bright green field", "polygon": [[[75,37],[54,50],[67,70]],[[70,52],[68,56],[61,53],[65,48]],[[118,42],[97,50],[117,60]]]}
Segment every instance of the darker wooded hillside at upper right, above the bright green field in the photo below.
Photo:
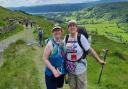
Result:
{"label": "darker wooded hillside at upper right, above the bright green field", "polygon": [[83,17],[80,17],[85,19],[94,18],[97,20],[103,19],[115,22],[128,22],[128,2],[101,4],[84,9],[77,14],[80,13],[85,14]]}

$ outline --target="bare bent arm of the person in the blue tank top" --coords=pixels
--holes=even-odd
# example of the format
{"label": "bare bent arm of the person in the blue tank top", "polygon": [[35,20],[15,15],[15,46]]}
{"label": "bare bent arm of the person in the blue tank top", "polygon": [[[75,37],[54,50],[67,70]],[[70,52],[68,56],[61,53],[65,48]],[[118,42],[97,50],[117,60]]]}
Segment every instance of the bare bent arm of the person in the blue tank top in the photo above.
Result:
{"label": "bare bent arm of the person in the blue tank top", "polygon": [[60,74],[59,72],[55,69],[54,66],[51,65],[51,63],[49,62],[49,56],[50,56],[50,53],[51,53],[51,44],[48,43],[44,49],[44,53],[43,53],[43,60],[46,64],[46,66],[52,71],[52,73],[54,74],[55,77],[59,77]]}

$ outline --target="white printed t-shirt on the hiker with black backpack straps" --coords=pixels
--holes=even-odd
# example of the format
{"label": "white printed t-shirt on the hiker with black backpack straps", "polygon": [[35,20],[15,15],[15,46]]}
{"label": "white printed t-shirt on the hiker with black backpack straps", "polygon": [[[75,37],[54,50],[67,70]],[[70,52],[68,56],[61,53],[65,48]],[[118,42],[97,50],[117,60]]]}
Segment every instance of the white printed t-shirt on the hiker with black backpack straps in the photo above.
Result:
{"label": "white printed t-shirt on the hiker with black backpack straps", "polygon": [[[90,44],[88,40],[83,35],[81,35],[80,41],[85,51],[88,51],[90,48]],[[65,39],[64,39],[64,42],[65,42]],[[68,60],[76,61],[76,60],[79,60],[81,56],[83,55],[82,48],[79,46],[78,41],[77,41],[77,36],[75,38],[72,38],[69,34],[68,42],[67,44],[65,44],[65,48],[66,48]],[[81,59],[81,61],[82,62],[75,62],[77,66],[76,66],[75,71],[72,74],[79,75],[86,71],[87,61],[86,59],[85,60]]]}

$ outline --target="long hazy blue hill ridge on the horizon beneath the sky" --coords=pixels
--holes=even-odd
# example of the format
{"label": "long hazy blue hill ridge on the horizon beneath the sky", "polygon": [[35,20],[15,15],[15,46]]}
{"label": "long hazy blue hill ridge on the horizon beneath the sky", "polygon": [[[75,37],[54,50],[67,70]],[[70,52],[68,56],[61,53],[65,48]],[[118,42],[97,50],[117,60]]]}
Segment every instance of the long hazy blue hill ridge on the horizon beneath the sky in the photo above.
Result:
{"label": "long hazy blue hill ridge on the horizon beneath the sky", "polygon": [[32,7],[17,7],[10,8],[11,10],[22,10],[28,13],[46,13],[46,12],[69,12],[69,11],[79,11],[90,6],[94,6],[101,3],[111,3],[111,2],[122,2],[128,0],[100,0],[88,3],[76,3],[76,4],[51,4],[42,6],[32,6]]}

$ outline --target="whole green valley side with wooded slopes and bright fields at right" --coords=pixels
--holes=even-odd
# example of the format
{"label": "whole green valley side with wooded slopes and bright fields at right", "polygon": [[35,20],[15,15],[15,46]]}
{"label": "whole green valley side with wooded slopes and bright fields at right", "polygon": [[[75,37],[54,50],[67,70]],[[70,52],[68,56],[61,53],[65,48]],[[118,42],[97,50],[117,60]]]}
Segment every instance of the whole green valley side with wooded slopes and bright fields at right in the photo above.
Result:
{"label": "whole green valley side with wooded slopes and bright fields at right", "polygon": [[48,14],[50,20],[66,24],[75,19],[88,31],[128,44],[128,2],[101,4],[81,11]]}

